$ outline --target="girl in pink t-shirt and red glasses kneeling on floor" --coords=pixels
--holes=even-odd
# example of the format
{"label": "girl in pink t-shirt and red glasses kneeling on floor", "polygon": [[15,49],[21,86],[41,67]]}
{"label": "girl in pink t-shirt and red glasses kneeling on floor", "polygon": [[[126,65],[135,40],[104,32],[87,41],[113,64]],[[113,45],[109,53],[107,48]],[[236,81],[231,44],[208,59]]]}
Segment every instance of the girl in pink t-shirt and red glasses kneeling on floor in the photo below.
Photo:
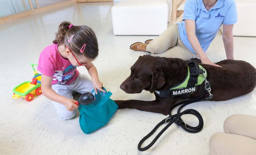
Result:
{"label": "girl in pink t-shirt and red glasses kneeling on floor", "polygon": [[[79,107],[74,104],[73,92],[85,93],[102,89],[102,82],[92,61],[98,56],[98,41],[87,26],[74,26],[62,22],[54,44],[40,54],[37,70],[42,73],[42,92],[52,100],[56,112],[63,120],[69,120]],[[85,66],[92,77],[80,75],[77,66]]]}

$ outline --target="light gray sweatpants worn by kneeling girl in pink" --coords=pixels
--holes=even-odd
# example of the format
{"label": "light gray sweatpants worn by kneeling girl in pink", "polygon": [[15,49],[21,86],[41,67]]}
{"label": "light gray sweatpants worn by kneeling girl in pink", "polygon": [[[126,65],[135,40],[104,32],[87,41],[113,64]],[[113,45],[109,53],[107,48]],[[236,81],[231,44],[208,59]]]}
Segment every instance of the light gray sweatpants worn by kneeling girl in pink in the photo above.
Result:
{"label": "light gray sweatpants worn by kneeling girl in pink", "polygon": [[[74,92],[81,94],[85,92],[91,92],[93,90],[93,84],[92,81],[89,80],[88,76],[79,74],[77,78],[70,84],[53,84],[52,89],[59,95],[65,96],[68,99],[73,99]],[[54,105],[57,114],[60,116],[62,120],[69,120],[73,118],[76,114],[76,110],[72,112],[68,111],[66,109],[66,106],[61,103],[53,101],[52,104]]]}

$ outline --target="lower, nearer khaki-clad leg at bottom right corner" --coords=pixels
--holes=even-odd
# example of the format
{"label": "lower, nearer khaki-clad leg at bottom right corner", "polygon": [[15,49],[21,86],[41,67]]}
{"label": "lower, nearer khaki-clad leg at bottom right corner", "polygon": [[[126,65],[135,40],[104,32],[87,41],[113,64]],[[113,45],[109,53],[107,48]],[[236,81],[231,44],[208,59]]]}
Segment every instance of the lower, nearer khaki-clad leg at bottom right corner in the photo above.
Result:
{"label": "lower, nearer khaki-clad leg at bottom right corner", "polygon": [[255,146],[253,138],[227,133],[216,133],[209,141],[211,155],[255,155]]}

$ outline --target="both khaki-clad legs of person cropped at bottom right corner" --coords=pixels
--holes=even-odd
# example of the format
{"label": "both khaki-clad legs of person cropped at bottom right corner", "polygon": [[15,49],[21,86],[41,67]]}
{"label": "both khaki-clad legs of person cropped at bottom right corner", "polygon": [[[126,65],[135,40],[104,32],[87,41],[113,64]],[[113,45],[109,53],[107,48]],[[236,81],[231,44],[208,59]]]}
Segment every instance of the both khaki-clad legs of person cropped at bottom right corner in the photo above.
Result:
{"label": "both khaki-clad legs of person cropped at bottom right corner", "polygon": [[256,116],[229,116],[224,132],[210,138],[211,155],[256,155]]}

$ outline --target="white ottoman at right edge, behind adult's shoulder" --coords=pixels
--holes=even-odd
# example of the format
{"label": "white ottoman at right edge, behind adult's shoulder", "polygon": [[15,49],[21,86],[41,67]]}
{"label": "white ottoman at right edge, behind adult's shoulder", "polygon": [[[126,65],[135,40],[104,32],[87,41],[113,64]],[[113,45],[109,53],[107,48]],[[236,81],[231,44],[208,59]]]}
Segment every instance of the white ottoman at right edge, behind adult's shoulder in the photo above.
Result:
{"label": "white ottoman at right edge, behind adult's shoulder", "polygon": [[[256,0],[235,0],[238,21],[234,25],[234,36],[256,37]],[[223,27],[221,27],[223,32]]]}

